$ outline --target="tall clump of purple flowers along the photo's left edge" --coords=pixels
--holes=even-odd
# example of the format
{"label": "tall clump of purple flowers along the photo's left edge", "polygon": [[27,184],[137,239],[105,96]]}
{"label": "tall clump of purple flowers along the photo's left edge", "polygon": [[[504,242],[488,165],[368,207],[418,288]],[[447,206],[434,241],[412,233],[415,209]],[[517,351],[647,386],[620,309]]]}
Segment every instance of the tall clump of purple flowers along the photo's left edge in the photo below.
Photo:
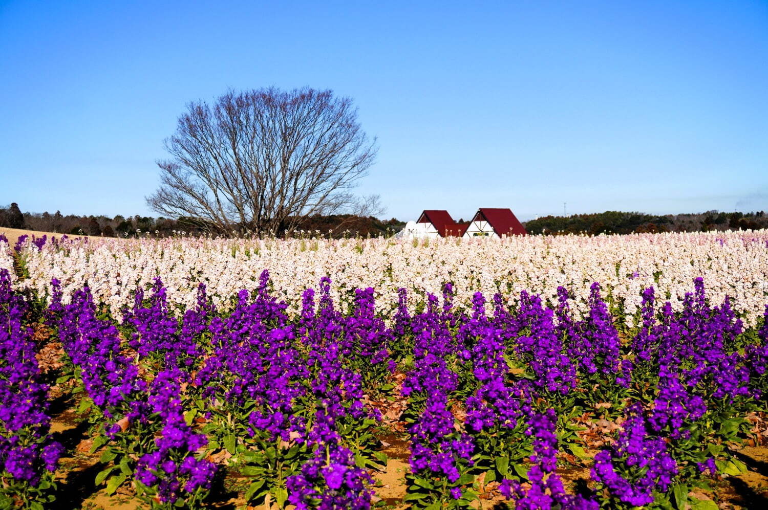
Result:
{"label": "tall clump of purple flowers along the photo's left edge", "polygon": [[[27,309],[8,270],[0,269],[0,469],[34,487],[45,470],[55,471],[63,447],[48,436],[48,386],[40,382],[35,341],[23,324]],[[5,490],[13,493],[8,482]]]}

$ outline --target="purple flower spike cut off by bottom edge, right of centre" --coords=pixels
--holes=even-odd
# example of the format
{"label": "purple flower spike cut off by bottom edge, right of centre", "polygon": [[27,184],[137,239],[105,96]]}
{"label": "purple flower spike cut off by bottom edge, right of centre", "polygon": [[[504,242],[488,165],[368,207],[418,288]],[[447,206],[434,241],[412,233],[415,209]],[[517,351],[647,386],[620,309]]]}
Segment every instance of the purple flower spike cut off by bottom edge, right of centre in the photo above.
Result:
{"label": "purple flower spike cut off by bottom edge, right of centre", "polygon": [[520,510],[597,510],[597,502],[581,495],[565,492],[563,482],[554,472],[557,467],[558,437],[555,434],[557,415],[553,409],[536,413],[528,422],[528,435],[533,436],[533,451],[528,469],[530,487],[525,489],[517,480],[504,479],[499,491],[515,502]]}

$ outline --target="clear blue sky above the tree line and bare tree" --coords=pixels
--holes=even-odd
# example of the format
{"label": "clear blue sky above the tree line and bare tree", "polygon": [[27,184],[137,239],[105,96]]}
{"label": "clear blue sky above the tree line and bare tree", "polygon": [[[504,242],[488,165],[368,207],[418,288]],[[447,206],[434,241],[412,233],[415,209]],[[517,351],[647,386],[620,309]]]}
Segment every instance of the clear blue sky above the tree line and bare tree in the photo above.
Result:
{"label": "clear blue sky above the tree line and bare tree", "polygon": [[386,216],[768,210],[768,2],[0,0],[0,204],[157,216],[190,100],[353,97]]}

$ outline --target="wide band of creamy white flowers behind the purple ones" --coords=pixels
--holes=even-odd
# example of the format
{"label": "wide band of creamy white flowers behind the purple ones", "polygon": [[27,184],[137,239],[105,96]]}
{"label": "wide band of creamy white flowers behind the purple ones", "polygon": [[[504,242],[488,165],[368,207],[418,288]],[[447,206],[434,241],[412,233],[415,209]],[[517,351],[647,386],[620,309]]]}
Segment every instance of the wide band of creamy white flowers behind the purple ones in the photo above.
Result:
{"label": "wide band of creamy white flowers behind the purple ones", "polygon": [[[3,252],[0,246],[0,252]],[[9,247],[5,245],[5,252]],[[28,278],[20,287],[45,294],[58,278],[65,294],[88,285],[113,311],[131,303],[137,286],[162,278],[168,296],[180,306],[194,304],[199,282],[220,307],[241,288],[253,289],[261,271],[270,271],[273,293],[300,307],[305,288],[323,276],[333,281],[333,297],[349,302],[355,288],[376,288],[377,306],[390,314],[398,288],[409,291],[413,308],[427,293],[441,294],[452,282],[458,304],[481,291],[488,301],[499,292],[515,304],[520,291],[554,302],[558,286],[574,295],[583,313],[589,286],[598,281],[604,295],[621,304],[627,322],[641,303],[641,291],[679,309],[694,278],[704,278],[707,295],[720,303],[726,294],[754,324],[768,302],[768,231],[636,235],[529,235],[509,239],[74,239],[48,242],[41,249],[27,240],[19,252]],[[0,255],[0,267],[8,265]]]}

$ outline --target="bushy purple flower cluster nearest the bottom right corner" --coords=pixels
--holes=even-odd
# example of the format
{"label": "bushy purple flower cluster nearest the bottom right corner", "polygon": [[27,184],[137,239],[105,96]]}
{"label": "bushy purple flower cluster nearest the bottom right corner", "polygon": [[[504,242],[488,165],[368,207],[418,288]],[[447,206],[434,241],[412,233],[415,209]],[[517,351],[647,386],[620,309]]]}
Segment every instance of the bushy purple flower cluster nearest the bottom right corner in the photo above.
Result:
{"label": "bushy purple flower cluster nearest the bottom right corner", "polygon": [[594,456],[592,478],[611,498],[633,506],[649,505],[654,491],[666,492],[677,475],[677,463],[664,437],[650,434],[641,404],[627,409],[623,430],[609,449]]}

